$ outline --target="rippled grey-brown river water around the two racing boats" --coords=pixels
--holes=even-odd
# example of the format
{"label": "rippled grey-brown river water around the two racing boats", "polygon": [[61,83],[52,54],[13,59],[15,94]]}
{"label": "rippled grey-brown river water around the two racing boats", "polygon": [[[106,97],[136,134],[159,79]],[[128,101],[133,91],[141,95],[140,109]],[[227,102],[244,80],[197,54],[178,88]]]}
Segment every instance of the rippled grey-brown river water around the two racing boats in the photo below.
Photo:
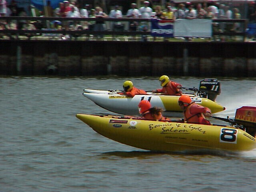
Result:
{"label": "rippled grey-brown river water around the two racing boats", "polygon": [[[0,77],[0,192],[223,192],[256,189],[256,150],[157,153],[105,138],[77,113],[108,111],[82,96],[84,88],[144,90],[158,77]],[[198,88],[203,78],[172,78]],[[256,78],[218,78],[217,102],[234,117],[256,106]],[[109,112],[110,114],[113,114]],[[218,123],[211,119],[211,122]]]}

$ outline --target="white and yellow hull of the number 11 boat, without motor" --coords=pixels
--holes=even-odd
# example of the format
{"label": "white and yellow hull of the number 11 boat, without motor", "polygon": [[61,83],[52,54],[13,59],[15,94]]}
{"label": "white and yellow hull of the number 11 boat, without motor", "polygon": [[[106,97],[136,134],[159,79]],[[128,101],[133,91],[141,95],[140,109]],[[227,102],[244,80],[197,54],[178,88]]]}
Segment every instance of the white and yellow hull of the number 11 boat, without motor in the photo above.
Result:
{"label": "white and yellow hull of the number 11 boat, without motor", "polygon": [[[86,91],[86,90],[84,90]],[[139,115],[138,104],[141,100],[150,101],[152,106],[157,106],[164,109],[164,115],[180,117],[182,116],[182,110],[178,105],[178,99],[180,96],[170,96],[170,95],[161,95],[161,94],[147,94],[147,95],[135,95],[133,98],[126,95],[120,95],[116,92],[108,92],[100,90],[92,90],[92,92],[84,92],[83,96],[92,100],[98,106],[118,113],[126,115]],[[225,110],[223,106],[207,98],[200,98],[192,94],[192,101],[210,108],[212,114]]]}

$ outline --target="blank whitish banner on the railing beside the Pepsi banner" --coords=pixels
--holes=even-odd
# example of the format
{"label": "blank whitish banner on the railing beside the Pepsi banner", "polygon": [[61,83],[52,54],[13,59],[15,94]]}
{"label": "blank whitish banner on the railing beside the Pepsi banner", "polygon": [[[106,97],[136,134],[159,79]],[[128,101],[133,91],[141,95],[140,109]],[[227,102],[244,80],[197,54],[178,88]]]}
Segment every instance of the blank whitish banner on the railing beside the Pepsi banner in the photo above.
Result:
{"label": "blank whitish banner on the railing beside the Pepsi banner", "polygon": [[212,37],[212,20],[177,19],[174,22],[174,37]]}

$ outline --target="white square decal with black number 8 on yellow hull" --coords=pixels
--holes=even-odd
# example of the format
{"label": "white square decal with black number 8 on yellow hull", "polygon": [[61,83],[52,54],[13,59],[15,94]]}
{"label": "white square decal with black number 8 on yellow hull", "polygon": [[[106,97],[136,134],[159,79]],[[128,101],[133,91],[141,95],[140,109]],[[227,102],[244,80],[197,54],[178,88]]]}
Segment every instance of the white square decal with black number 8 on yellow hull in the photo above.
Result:
{"label": "white square decal with black number 8 on yellow hull", "polygon": [[220,142],[236,144],[238,131],[236,129],[221,128]]}

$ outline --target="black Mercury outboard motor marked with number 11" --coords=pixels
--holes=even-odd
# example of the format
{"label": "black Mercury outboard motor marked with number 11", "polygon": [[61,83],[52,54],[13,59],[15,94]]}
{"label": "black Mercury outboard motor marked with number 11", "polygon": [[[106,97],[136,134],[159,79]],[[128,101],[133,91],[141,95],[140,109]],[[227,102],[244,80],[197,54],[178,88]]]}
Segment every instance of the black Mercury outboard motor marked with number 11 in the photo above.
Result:
{"label": "black Mercury outboard motor marked with number 11", "polygon": [[221,92],[220,82],[217,79],[204,79],[200,81],[199,91],[206,93],[208,99],[215,101]]}

